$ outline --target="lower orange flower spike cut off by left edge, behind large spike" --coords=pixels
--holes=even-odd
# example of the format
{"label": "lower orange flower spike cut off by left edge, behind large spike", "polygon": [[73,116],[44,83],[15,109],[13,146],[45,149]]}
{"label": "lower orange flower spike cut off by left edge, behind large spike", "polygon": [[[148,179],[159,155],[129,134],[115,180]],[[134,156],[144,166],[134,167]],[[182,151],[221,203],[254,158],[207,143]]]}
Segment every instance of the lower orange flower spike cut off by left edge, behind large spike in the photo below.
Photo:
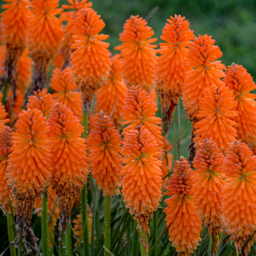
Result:
{"label": "lower orange flower spike cut off by left edge, behind large spike", "polygon": [[[9,198],[13,205],[13,198],[7,184],[7,158],[11,152],[11,133],[13,129],[6,127],[0,129],[0,205],[3,212],[11,213]],[[9,198],[8,198],[9,195]]]}

